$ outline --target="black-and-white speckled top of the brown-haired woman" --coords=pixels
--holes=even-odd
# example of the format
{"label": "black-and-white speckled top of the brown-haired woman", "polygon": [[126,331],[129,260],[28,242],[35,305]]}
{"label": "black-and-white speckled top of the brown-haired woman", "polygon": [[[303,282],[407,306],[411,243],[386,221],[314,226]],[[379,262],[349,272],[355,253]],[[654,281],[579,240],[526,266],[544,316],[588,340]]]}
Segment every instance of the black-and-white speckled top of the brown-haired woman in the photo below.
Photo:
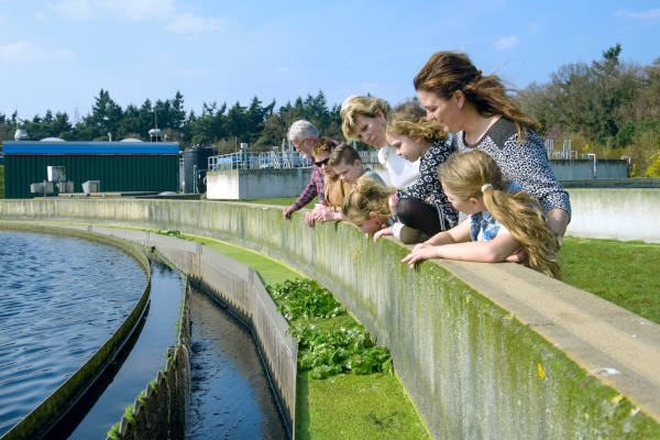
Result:
{"label": "black-and-white speckled top of the brown-haired woman", "polygon": [[543,140],[535,132],[518,143],[516,125],[499,118],[476,144],[465,142],[465,133],[458,132],[452,140],[454,150],[477,148],[497,162],[505,180],[517,182],[527,194],[539,199],[543,212],[554,208],[571,215],[569,194],[563,189],[548,162]]}

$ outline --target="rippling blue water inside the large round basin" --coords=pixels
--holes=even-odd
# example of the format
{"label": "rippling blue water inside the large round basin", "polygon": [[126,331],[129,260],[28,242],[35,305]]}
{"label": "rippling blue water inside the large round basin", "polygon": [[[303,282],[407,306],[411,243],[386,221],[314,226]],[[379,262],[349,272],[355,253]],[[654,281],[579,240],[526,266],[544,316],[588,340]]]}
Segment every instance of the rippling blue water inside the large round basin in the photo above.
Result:
{"label": "rippling blue water inside the large round basin", "polygon": [[0,436],[96,353],[145,284],[116,248],[0,230]]}

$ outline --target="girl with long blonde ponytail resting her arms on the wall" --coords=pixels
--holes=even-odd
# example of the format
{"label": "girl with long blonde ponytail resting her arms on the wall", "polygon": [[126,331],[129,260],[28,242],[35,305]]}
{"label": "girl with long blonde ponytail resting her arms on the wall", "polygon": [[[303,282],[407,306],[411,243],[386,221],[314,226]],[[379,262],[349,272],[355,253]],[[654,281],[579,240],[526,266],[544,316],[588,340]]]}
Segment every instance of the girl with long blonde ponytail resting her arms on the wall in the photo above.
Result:
{"label": "girl with long blonde ponytail resting her arms on the wall", "polygon": [[410,268],[428,258],[494,263],[522,248],[534,270],[559,278],[559,244],[538,200],[505,182],[490,155],[477,150],[454,153],[440,165],[438,177],[452,206],[470,217],[416,245],[402,263]]}

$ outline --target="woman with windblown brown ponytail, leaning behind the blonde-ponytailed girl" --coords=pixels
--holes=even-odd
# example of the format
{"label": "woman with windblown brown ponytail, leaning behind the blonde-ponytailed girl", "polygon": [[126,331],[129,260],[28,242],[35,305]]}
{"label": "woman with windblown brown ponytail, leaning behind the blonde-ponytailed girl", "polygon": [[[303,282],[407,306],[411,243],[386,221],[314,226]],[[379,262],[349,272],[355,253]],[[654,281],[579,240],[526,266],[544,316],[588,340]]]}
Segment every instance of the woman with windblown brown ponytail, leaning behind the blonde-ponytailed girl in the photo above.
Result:
{"label": "woman with windblown brown ponytail, leaning behind the blonde-ponytailed girl", "polygon": [[550,168],[538,124],[507,95],[495,75],[482,75],[455,52],[433,54],[414,79],[427,119],[454,133],[457,151],[491,155],[505,178],[537,198],[560,245],[570,221],[569,195]]}

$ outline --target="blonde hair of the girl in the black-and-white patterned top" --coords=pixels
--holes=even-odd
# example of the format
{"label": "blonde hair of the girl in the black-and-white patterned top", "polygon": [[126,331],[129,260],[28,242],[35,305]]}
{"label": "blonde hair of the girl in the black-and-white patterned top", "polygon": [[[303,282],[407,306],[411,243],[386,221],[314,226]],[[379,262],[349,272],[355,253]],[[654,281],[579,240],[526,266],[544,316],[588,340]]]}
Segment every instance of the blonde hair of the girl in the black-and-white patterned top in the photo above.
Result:
{"label": "blonde hair of the girl in the black-and-white patterned top", "polygon": [[427,120],[426,111],[415,101],[405,102],[392,111],[387,118],[386,132],[428,144],[447,139],[442,125]]}

